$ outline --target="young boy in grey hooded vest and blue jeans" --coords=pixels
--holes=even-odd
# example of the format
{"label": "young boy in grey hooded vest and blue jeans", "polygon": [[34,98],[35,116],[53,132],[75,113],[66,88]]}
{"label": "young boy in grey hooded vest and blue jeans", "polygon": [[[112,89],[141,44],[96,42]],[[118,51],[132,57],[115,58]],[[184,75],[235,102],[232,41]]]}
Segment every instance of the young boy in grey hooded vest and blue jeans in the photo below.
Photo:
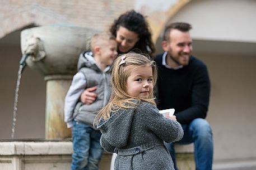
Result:
{"label": "young boy in grey hooded vest and blue jeans", "polygon": [[[91,38],[89,52],[78,59],[78,72],[73,77],[64,103],[64,121],[72,128],[73,169],[99,169],[103,148],[101,133],[94,127],[94,118],[110,98],[110,66],[117,57],[117,42],[108,33],[99,33]],[[97,86],[97,99],[86,105],[79,101],[85,88]]]}

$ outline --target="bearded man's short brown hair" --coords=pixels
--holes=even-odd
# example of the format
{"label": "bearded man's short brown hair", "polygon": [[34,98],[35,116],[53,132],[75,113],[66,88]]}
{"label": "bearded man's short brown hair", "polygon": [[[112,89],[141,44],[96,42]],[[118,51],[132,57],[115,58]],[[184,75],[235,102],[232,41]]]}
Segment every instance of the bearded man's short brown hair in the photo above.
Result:
{"label": "bearded man's short brown hair", "polygon": [[189,23],[185,23],[185,22],[170,23],[169,25],[165,26],[163,40],[170,41],[170,32],[173,29],[179,30],[182,32],[188,32],[190,29],[192,29],[192,26]]}

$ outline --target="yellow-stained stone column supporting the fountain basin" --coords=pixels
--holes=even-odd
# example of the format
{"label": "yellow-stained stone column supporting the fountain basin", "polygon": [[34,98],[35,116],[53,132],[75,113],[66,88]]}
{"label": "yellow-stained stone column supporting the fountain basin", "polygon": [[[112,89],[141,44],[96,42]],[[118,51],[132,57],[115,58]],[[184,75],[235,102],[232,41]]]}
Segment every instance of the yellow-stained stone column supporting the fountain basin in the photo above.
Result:
{"label": "yellow-stained stone column supporting the fountain basin", "polygon": [[59,139],[71,137],[71,129],[67,129],[64,120],[64,98],[71,85],[72,76],[45,76],[46,81],[46,110],[45,138]]}

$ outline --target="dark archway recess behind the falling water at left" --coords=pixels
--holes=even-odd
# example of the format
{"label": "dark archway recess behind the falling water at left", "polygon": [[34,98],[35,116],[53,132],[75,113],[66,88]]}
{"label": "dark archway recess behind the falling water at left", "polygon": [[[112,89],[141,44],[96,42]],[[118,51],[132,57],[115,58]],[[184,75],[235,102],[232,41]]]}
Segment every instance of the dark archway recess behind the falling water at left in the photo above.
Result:
{"label": "dark archway recess behind the falling water at left", "polygon": [[[21,59],[19,30],[0,39],[0,138],[11,139],[13,102]],[[44,138],[45,126],[45,81],[39,72],[26,67],[22,72],[18,93],[18,110],[15,139]]]}

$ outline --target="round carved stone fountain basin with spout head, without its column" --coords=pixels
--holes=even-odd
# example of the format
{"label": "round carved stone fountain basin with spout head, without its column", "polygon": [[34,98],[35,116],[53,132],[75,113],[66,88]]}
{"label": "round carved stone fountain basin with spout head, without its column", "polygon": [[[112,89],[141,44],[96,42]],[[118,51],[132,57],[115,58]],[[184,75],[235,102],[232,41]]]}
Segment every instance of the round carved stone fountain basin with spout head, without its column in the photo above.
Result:
{"label": "round carved stone fountain basin with spout head, without its column", "polygon": [[[44,75],[69,74],[76,72],[81,51],[89,48],[89,40],[96,33],[92,28],[74,26],[40,26],[21,32],[21,51],[33,52],[26,60],[27,65]],[[35,49],[29,46],[36,46]],[[28,49],[30,48],[30,49]]]}

